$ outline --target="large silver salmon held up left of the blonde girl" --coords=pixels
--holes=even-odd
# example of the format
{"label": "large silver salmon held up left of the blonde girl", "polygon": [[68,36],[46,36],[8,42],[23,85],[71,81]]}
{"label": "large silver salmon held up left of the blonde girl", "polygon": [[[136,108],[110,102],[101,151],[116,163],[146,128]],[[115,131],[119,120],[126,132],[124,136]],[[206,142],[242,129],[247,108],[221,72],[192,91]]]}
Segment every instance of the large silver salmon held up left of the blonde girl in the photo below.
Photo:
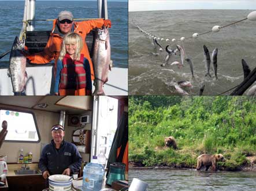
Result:
{"label": "large silver salmon held up left of the blonde girl", "polygon": [[12,79],[14,96],[25,95],[25,83],[28,75],[26,72],[27,58],[21,53],[24,50],[24,40],[14,39],[10,52],[10,66],[8,75]]}

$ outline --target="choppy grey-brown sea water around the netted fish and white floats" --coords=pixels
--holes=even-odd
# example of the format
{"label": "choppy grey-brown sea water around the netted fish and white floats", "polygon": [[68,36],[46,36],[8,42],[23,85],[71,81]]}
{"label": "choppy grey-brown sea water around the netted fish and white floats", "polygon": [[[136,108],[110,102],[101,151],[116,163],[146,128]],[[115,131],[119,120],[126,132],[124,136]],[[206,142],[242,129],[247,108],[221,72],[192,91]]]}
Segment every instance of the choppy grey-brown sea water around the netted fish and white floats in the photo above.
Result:
{"label": "choppy grey-brown sea water around the netted fish and white floats", "polygon": [[[165,47],[176,48],[180,41],[159,43],[164,51],[154,48],[153,39],[136,27],[139,26],[159,38],[190,37],[194,33],[212,30],[214,25],[224,26],[246,18],[252,10],[164,10],[151,12],[129,12],[129,95],[180,95],[173,86],[173,81],[191,81],[192,87],[184,87],[191,96],[198,95],[199,89],[205,85],[203,95],[217,95],[239,85],[244,79],[242,59],[251,70],[256,66],[256,22],[242,21],[238,24],[222,28],[217,33],[207,33],[196,39],[183,41],[186,57],[194,63],[194,75],[191,77],[190,66],[184,62],[183,68],[170,66],[174,61],[180,62],[180,56],[173,55],[169,64],[161,67],[166,56]],[[209,49],[210,55],[218,48],[217,76],[205,77],[205,61],[203,45]],[[159,55],[154,55],[158,53]],[[231,91],[224,93],[230,94]]]}

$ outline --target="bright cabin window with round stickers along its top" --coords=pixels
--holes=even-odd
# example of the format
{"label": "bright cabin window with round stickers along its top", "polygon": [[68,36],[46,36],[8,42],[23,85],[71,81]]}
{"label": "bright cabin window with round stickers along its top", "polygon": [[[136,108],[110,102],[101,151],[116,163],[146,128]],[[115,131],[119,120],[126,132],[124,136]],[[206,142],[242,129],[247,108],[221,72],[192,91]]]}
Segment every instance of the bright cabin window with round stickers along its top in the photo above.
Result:
{"label": "bright cabin window with round stickers along its top", "polygon": [[[0,122],[8,123],[6,142],[40,142],[40,135],[32,112],[21,110],[0,110]],[[2,127],[0,127],[2,130]]]}

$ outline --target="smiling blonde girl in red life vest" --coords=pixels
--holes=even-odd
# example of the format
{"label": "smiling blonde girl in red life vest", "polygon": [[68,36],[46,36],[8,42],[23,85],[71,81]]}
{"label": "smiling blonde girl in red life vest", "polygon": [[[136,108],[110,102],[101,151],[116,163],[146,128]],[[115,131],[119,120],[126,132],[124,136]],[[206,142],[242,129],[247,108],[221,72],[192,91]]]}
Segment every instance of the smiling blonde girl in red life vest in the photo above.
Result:
{"label": "smiling blonde girl in red life vest", "polygon": [[57,62],[55,95],[91,95],[91,68],[87,58],[80,54],[82,48],[83,41],[77,33],[64,37]]}

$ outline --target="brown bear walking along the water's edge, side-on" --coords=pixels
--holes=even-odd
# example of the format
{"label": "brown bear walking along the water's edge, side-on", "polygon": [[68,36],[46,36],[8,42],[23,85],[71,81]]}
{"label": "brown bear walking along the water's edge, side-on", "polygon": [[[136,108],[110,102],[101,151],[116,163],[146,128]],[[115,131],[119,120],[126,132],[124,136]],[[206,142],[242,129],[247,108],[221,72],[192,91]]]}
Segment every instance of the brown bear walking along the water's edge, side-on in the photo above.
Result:
{"label": "brown bear walking along the water's edge, side-on", "polygon": [[206,166],[205,170],[208,170],[209,167],[212,166],[212,169],[216,171],[218,161],[226,161],[226,159],[222,154],[216,154],[216,155],[202,154],[197,158],[196,170],[200,170],[203,166]]}

